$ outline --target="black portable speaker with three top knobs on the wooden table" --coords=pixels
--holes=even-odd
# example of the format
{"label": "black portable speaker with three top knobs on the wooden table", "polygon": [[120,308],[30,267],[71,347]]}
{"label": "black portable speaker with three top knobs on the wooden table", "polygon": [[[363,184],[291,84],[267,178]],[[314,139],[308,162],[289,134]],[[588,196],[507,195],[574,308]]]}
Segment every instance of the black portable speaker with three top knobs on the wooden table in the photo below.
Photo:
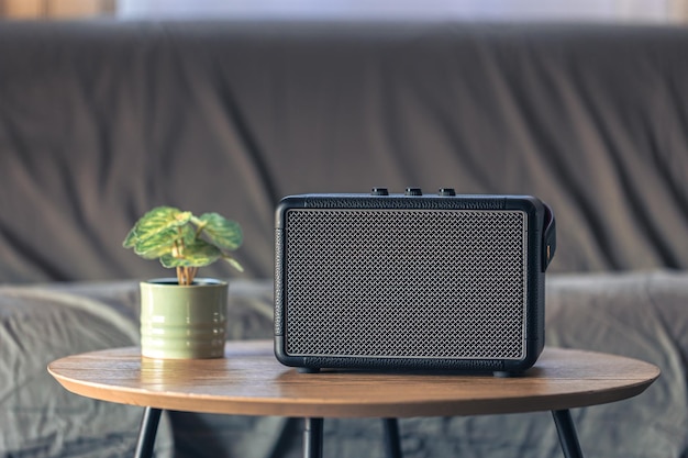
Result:
{"label": "black portable speaker with three top knobs on the wooden table", "polygon": [[304,194],[276,211],[275,354],[303,370],[531,367],[550,208],[528,196]]}

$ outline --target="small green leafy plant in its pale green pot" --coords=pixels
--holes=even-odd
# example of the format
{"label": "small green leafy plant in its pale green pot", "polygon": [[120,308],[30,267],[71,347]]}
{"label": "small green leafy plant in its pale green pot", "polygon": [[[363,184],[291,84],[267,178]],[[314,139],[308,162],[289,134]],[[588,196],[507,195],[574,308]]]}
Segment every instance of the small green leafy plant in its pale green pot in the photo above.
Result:
{"label": "small green leafy plant in its pale green pot", "polygon": [[176,278],[141,282],[141,353],[151,358],[224,356],[228,282],[198,278],[199,267],[218,260],[242,267],[230,252],[242,244],[241,226],[218,213],[195,216],[173,206],[144,214],[123,246],[159,259]]}

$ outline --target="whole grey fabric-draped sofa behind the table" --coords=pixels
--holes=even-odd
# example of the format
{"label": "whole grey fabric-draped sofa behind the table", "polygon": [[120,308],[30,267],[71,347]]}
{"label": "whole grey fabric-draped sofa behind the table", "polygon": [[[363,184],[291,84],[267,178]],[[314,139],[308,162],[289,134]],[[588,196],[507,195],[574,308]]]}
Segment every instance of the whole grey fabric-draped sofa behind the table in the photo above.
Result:
{"label": "whole grey fabric-draped sofa behind the table", "polygon": [[[60,356],[137,343],[121,248],[171,204],[237,220],[231,338],[271,338],[273,212],[301,192],[525,193],[557,217],[547,345],[642,358],[642,395],[573,412],[591,457],[688,456],[688,30],[455,22],[0,23],[0,456],[131,456],[141,407]],[[159,457],[299,456],[295,418],[169,412]],[[561,456],[546,413],[402,420],[406,457]],[[375,420],[329,457],[382,456]]]}

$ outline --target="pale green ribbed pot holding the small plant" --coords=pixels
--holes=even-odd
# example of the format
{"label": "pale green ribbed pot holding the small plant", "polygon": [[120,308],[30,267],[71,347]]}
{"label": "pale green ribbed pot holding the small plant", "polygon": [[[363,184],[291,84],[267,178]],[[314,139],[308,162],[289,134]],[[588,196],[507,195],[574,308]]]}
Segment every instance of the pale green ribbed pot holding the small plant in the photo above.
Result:
{"label": "pale green ribbed pot holding the small plant", "polygon": [[189,287],[177,279],[141,282],[141,354],[148,358],[224,357],[225,281],[200,278]]}

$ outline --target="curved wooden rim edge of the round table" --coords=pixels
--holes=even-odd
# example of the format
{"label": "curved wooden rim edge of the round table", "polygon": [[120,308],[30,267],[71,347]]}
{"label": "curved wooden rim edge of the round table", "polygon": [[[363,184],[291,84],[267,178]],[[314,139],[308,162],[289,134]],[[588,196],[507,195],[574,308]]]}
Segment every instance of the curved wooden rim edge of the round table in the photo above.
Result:
{"label": "curved wooden rim edge of the round table", "polygon": [[[269,340],[251,340],[267,346]],[[585,393],[585,400],[581,393],[572,394],[553,394],[540,395],[531,399],[532,402],[523,405],[524,398],[503,396],[500,399],[479,399],[479,400],[459,400],[459,401],[422,401],[422,402],[377,402],[366,403],[360,406],[356,403],[326,402],[323,400],[313,400],[311,402],[299,401],[298,403],[285,399],[225,399],[218,400],[212,395],[193,395],[187,394],[184,399],[179,399],[178,394],[165,393],[157,391],[145,391],[133,388],[119,387],[113,389],[112,386],[103,383],[85,382],[75,380],[57,373],[54,369],[56,364],[66,358],[59,358],[51,362],[47,367],[48,372],[68,391],[86,398],[99,399],[108,402],[116,402],[122,404],[149,406],[164,410],[179,410],[203,413],[234,414],[234,415],[255,415],[255,416],[299,416],[299,417],[413,417],[413,416],[464,416],[464,415],[482,415],[482,414],[509,414],[540,412],[552,410],[577,409],[592,405],[601,405],[606,403],[617,402],[624,399],[636,396],[643,393],[659,376],[661,370],[657,366],[640,359],[611,354],[601,354],[598,351],[588,351],[579,349],[567,349],[552,347],[557,350],[589,353],[598,355],[609,355],[615,358],[625,358],[635,362],[646,365],[654,368],[654,376],[645,380],[629,382],[622,388],[602,389]],[[98,353],[112,353],[113,350],[136,351],[137,347],[124,347],[118,349],[107,349],[89,351],[81,355],[90,355]],[[80,356],[80,355],[75,355]],[[287,368],[289,369],[289,368]],[[189,401],[193,401],[193,409],[188,407]]]}

